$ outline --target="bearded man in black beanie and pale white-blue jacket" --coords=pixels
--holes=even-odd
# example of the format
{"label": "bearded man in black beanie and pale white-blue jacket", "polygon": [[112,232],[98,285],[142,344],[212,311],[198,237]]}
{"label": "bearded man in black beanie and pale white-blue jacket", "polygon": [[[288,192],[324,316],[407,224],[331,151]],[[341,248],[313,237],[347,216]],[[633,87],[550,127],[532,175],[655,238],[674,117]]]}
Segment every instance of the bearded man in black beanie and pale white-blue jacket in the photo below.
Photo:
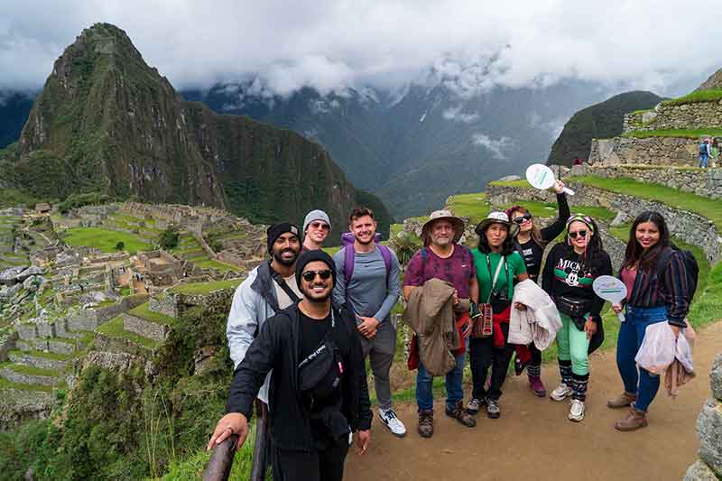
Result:
{"label": "bearded man in black beanie and pale white-blue jacket", "polygon": [[[266,230],[266,245],[271,260],[259,265],[248,274],[244,282],[238,286],[233,295],[233,304],[228,313],[226,335],[228,348],[234,367],[238,367],[245,353],[266,319],[279,310],[285,309],[301,297],[294,275],[296,259],[301,252],[301,235],[299,228],[284,222],[274,224]],[[268,386],[271,374],[266,377],[258,399],[263,402],[260,409],[267,416]],[[266,432],[256,431],[256,441],[264,443]],[[259,457],[254,459],[255,475],[264,478],[266,458],[264,450],[259,450]],[[252,481],[255,481],[252,480]]]}

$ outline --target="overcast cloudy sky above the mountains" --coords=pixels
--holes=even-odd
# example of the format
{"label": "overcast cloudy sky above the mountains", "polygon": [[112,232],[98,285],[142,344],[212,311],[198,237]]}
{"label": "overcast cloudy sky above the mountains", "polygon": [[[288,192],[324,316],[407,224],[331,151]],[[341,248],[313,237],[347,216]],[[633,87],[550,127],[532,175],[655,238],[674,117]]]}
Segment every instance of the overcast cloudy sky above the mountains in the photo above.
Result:
{"label": "overcast cloudy sky above the mountains", "polygon": [[395,88],[433,71],[469,94],[576,78],[679,95],[722,67],[721,13],[717,0],[0,0],[0,89],[42,87],[83,28],[108,22],[176,88],[249,75],[281,94]]}

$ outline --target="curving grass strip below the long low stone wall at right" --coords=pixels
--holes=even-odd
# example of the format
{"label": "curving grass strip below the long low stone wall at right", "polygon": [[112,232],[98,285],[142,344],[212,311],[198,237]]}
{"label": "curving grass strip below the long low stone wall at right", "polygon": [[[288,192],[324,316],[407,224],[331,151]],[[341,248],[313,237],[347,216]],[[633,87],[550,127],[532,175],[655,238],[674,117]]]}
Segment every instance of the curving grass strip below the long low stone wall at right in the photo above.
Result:
{"label": "curving grass strip below the long low stone wall at right", "polygon": [[691,194],[677,189],[671,189],[659,184],[640,182],[626,177],[606,179],[592,175],[574,178],[575,182],[598,189],[609,190],[620,194],[634,195],[648,200],[657,200],[673,208],[689,210],[702,217],[707,217],[715,223],[717,232],[722,228],[722,200]]}

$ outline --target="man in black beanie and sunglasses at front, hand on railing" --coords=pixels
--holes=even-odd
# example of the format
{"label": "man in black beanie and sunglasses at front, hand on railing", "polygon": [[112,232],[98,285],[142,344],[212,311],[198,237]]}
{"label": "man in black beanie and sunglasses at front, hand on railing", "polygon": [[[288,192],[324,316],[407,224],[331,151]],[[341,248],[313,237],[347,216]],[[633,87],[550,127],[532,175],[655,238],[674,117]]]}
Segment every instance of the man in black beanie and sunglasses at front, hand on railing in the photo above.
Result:
{"label": "man in black beanie and sunglasses at front, hand on railing", "polygon": [[[303,301],[264,322],[236,368],[228,413],[218,421],[208,449],[233,433],[239,435],[236,448],[243,445],[255,396],[273,369],[269,393],[273,478],[340,481],[349,433],[358,430],[362,453],[370,440],[372,413],[364,355],[353,315],[331,305],[336,268],[329,254],[301,254],[296,278]],[[324,356],[331,356],[333,362],[323,363]],[[324,367],[310,365],[317,362]],[[304,370],[307,364],[310,369]]]}

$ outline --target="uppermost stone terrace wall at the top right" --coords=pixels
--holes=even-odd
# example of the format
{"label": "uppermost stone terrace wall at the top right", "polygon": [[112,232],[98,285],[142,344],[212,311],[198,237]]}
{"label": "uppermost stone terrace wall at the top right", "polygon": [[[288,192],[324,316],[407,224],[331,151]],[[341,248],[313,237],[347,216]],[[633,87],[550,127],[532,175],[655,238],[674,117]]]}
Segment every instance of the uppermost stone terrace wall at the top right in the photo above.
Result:
{"label": "uppermost stone terrace wall at the top right", "polygon": [[625,132],[719,127],[722,126],[722,101],[679,106],[660,104],[652,111],[627,114],[624,125]]}

